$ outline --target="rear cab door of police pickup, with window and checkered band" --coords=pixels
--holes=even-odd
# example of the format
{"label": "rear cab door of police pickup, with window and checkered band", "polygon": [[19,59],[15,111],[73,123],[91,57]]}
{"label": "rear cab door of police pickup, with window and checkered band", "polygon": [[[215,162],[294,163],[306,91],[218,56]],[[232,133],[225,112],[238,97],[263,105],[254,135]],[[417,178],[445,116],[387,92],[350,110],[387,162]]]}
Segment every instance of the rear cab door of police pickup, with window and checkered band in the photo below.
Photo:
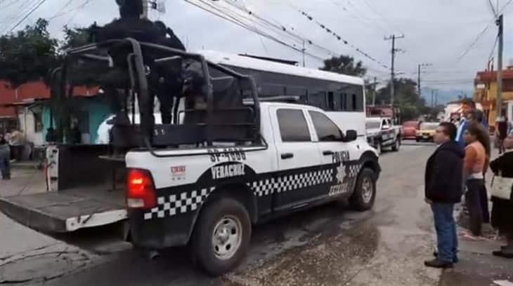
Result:
{"label": "rear cab door of police pickup, with window and checkered band", "polygon": [[320,172],[320,155],[313,143],[312,128],[301,107],[270,107],[278,154],[273,184],[275,211],[308,205],[320,196],[318,186],[328,180]]}

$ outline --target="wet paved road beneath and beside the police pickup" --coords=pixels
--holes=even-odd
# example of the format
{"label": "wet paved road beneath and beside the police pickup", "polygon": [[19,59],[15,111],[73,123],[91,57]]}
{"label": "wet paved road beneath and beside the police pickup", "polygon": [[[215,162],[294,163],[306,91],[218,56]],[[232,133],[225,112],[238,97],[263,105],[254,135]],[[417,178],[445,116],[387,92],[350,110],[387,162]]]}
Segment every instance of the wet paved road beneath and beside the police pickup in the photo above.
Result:
{"label": "wet paved road beneath and beside the police pickup", "polygon": [[405,142],[382,154],[370,212],[334,203],[258,226],[245,263],[221,278],[195,271],[187,250],[176,248],[157,261],[131,250],[104,255],[44,285],[437,285],[441,273],[422,265],[433,249],[422,189],[433,149]]}

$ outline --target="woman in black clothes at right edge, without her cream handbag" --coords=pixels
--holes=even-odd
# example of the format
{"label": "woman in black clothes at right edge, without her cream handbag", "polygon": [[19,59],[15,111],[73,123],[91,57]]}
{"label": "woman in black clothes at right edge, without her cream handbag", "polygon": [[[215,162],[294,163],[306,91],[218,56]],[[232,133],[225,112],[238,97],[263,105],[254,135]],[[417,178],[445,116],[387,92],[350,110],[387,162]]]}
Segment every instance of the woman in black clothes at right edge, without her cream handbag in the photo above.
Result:
{"label": "woman in black clothes at right edge, without her cream handbag", "polygon": [[[493,160],[490,168],[495,175],[513,178],[513,136],[505,139],[504,147],[505,153]],[[513,191],[510,196],[509,200],[492,196],[492,226],[507,239],[507,245],[493,255],[513,259]]]}

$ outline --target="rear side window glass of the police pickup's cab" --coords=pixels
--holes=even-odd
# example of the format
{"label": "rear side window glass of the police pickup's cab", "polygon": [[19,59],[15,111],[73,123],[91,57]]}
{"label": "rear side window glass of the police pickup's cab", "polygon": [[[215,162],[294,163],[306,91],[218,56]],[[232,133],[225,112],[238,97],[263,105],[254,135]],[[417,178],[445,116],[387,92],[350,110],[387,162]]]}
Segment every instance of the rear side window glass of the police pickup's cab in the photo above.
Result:
{"label": "rear side window glass of the police pickup's cab", "polygon": [[278,109],[278,125],[283,142],[310,142],[310,132],[300,109]]}

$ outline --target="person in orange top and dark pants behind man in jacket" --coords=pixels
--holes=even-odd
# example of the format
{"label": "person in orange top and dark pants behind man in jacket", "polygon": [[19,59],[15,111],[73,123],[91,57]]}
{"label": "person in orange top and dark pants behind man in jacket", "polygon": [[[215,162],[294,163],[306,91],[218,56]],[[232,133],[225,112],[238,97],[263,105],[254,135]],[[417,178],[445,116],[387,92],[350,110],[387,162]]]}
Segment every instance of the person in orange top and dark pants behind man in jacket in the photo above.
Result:
{"label": "person in orange top and dark pants behind man in jacket", "polygon": [[465,193],[465,203],[469,210],[470,230],[474,236],[481,236],[483,227],[483,209],[481,200],[481,191],[484,189],[484,173],[488,168],[486,149],[483,146],[486,138],[483,138],[483,132],[478,124],[472,124],[465,131],[465,163],[463,166],[463,176],[467,192]]}

